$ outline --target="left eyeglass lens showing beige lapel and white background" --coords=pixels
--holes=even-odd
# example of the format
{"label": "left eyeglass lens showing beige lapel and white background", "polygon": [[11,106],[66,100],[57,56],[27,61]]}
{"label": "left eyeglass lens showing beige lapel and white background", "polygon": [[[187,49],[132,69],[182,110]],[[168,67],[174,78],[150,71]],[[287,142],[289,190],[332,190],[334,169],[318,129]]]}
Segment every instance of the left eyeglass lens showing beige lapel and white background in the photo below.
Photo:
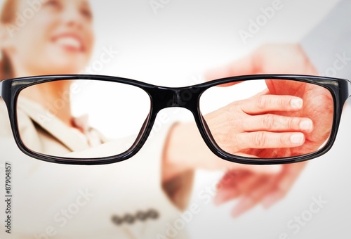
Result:
{"label": "left eyeglass lens showing beige lapel and white background", "polygon": [[[67,112],[73,119],[65,122]],[[90,157],[124,153],[135,142],[149,112],[150,96],[143,89],[84,79],[29,86],[20,91],[17,104],[25,146],[59,157],[79,158],[71,152],[95,147],[100,150],[88,154]],[[102,146],[108,143],[112,145]]]}

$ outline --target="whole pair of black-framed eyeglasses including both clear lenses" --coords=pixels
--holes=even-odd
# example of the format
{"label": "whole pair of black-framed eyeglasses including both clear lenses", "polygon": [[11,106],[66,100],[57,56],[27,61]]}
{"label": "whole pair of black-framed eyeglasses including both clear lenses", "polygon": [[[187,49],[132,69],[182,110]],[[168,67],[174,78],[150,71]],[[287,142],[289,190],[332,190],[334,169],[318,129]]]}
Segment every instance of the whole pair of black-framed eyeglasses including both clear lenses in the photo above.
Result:
{"label": "whole pair of black-framed eyeglasses including both clear lenses", "polygon": [[[218,157],[244,164],[284,164],[319,157],[331,148],[351,82],[247,75],[170,88],[121,77],[55,75],[6,79],[0,82],[0,93],[18,147],[38,160],[127,160],[150,136],[157,114],[180,107],[192,112],[206,145]],[[77,144],[79,132],[65,134],[56,117],[67,110],[74,116],[88,115],[86,131],[104,138],[102,146],[91,144],[98,150],[89,157],[80,156],[88,149],[70,145]]]}

